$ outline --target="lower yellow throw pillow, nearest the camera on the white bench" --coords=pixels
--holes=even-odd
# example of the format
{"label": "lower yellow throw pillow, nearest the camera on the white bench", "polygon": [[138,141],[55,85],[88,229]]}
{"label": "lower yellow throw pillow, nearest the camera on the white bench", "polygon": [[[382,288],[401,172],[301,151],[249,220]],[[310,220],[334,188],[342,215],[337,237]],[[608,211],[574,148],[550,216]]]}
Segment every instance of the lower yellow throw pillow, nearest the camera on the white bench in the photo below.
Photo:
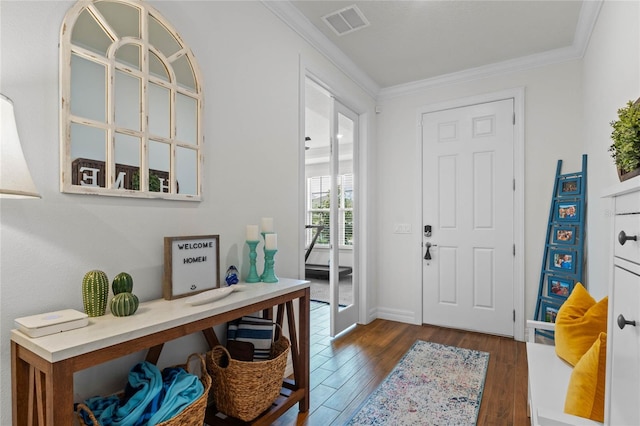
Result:
{"label": "lower yellow throw pillow, nearest the camera on the white bench", "polygon": [[600,333],[571,372],[564,412],[604,422],[607,333]]}

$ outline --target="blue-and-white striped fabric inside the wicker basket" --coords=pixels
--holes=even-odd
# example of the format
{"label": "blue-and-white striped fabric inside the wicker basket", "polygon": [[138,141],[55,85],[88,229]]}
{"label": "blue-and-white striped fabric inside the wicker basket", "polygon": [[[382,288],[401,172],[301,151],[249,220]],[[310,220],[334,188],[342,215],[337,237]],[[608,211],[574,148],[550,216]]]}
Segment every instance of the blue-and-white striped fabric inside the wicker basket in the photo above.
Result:
{"label": "blue-and-white striped fabric inside the wicker basket", "polygon": [[227,340],[253,344],[253,360],[264,361],[271,356],[273,343],[273,322],[259,317],[242,317],[229,323]]}

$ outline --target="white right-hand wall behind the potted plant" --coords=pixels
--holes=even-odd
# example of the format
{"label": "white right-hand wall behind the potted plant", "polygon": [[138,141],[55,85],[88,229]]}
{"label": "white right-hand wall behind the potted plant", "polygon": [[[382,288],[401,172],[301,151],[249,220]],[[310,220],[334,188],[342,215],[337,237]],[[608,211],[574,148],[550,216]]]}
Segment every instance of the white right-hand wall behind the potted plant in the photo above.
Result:
{"label": "white right-hand wall behind the potted plant", "polygon": [[[607,294],[611,235],[605,188],[619,182],[611,145],[616,111],[640,96],[640,3],[605,1],[584,57],[582,135],[589,155],[589,290]],[[637,178],[636,178],[637,179]]]}

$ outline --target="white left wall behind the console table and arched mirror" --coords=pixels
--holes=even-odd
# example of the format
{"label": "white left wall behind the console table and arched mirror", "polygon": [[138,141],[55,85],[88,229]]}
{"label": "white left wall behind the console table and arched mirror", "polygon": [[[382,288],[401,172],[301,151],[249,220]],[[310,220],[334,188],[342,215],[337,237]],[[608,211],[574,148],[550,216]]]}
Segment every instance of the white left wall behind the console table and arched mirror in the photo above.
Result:
{"label": "white left wall behind the console table and arched mirror", "polygon": [[[360,112],[374,116],[372,100],[260,2],[153,1],[192,48],[204,75],[204,200],[62,194],[58,37],[72,4],[1,3],[0,91],[15,103],[25,156],[42,195],[0,205],[3,425],[11,424],[13,319],[62,308],[82,310],[80,285],[88,270],[102,269],[109,277],[127,271],[142,301],[160,298],[163,237],[220,234],[221,274],[234,264],[244,275],[245,225],[269,216],[279,234],[276,271],[297,277],[304,250],[299,244],[304,225],[299,215],[301,56],[354,99]],[[375,120],[369,123],[373,128]],[[200,335],[171,342],[160,363],[183,362],[203,345]],[[76,398],[121,388],[133,359],[139,358],[77,374]]]}

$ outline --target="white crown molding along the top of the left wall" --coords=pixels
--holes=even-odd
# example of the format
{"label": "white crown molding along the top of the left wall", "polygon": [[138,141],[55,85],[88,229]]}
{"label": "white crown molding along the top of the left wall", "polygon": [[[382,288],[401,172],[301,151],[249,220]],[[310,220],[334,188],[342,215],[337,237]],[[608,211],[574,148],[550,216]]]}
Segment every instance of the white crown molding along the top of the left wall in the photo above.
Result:
{"label": "white crown molding along the top of the left wall", "polygon": [[261,0],[262,4],[280,18],[307,43],[322,53],[369,96],[375,99],[380,86],[344,52],[317,29],[295,6],[287,1]]}

